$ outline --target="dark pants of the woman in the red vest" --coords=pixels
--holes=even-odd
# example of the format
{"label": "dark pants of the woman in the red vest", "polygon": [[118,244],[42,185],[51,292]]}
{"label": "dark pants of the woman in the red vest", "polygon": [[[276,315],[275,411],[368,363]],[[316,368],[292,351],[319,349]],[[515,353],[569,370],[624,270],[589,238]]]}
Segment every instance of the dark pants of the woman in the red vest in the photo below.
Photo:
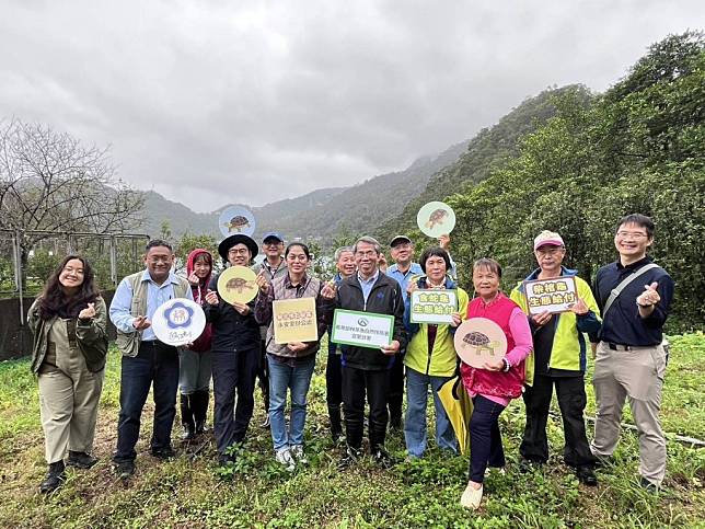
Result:
{"label": "dark pants of the woman in the red vest", "polygon": [[469,479],[482,483],[485,469],[501,468],[506,464],[505,449],[499,433],[501,404],[477,395],[473,399],[473,414],[470,418],[470,472]]}

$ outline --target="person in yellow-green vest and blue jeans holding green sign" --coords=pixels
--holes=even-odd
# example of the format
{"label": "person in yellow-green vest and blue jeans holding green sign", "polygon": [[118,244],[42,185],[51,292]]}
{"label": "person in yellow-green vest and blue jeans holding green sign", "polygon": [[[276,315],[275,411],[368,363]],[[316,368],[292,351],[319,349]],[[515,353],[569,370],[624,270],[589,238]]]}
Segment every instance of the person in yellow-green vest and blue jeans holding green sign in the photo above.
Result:
{"label": "person in yellow-green vest and blue jeans holding green sign", "polygon": [[[428,403],[428,387],[434,390],[436,409],[436,445],[439,448],[458,451],[458,442],[452,425],[446,414],[443,404],[438,396],[440,387],[450,380],[456,366],[456,355],[453,348],[455,327],[467,313],[467,292],[448,276],[450,256],[442,248],[429,248],[421,254],[421,269],[426,274],[407,287],[404,310],[404,324],[411,336],[404,356],[406,366],[406,419],[404,422],[404,438],[409,458],[420,458],[426,450],[426,405]],[[455,304],[452,308],[450,323],[412,323],[412,298],[417,289],[432,292],[453,291]],[[437,306],[440,307],[440,306]],[[432,307],[431,307],[432,308]],[[444,309],[444,307],[441,307]],[[425,311],[426,312],[431,312]],[[441,312],[434,311],[435,313]],[[461,315],[462,314],[462,315]],[[443,311],[446,315],[446,311]]]}

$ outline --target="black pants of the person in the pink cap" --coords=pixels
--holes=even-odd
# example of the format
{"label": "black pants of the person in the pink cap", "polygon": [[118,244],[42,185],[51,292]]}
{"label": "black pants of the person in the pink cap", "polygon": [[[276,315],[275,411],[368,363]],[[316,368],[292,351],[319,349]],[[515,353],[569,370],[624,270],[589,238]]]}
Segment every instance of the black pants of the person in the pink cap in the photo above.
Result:
{"label": "black pants of the person in the pink cap", "polygon": [[548,439],[546,423],[553,386],[556,386],[558,406],[563,417],[565,448],[563,457],[570,467],[585,467],[594,463],[585,432],[582,412],[587,403],[585,381],[579,377],[534,377],[533,387],[527,387],[523,399],[527,405],[527,426],[519,452],[525,459],[545,463],[548,460]]}

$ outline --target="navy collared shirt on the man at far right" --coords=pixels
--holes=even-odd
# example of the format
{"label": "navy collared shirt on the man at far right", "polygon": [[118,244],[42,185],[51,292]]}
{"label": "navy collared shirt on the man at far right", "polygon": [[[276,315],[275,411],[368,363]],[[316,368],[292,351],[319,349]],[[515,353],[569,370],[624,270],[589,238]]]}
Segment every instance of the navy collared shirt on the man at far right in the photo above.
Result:
{"label": "navy collared shirt on the man at far right", "polygon": [[[622,265],[620,261],[603,266],[594,279],[593,292],[600,311],[604,309],[612,289],[631,274],[650,263],[644,257],[636,263]],[[661,300],[656,304],[648,318],[639,315],[636,298],[644,291],[644,285],[658,283],[657,291]],[[671,310],[673,299],[673,279],[661,268],[654,268],[629,283],[610,307],[606,314],[602,313],[602,329],[599,338],[603,342],[647,347],[658,345],[663,338],[662,329]],[[592,337],[591,337],[592,338]],[[594,340],[593,340],[594,341]]]}

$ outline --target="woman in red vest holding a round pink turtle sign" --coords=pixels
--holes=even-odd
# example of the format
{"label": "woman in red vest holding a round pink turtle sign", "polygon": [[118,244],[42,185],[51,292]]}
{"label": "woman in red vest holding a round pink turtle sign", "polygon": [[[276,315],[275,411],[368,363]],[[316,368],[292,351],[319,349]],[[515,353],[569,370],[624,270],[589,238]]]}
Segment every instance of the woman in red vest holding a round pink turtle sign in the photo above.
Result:
{"label": "woman in red vest holding a round pink turtle sign", "polygon": [[[496,261],[481,258],[473,265],[473,286],[477,297],[467,307],[467,321],[489,320],[499,326],[507,342],[505,355],[492,356],[482,367],[461,364],[463,384],[473,400],[470,419],[470,479],[460,503],[476,509],[483,497],[483,480],[487,467],[504,468],[498,418],[512,399],[521,396],[524,382],[524,359],[531,353],[531,329],[521,308],[499,290],[501,267]],[[463,325],[465,325],[464,323]],[[458,342],[456,332],[455,342]],[[482,333],[470,333],[465,341],[482,345]],[[489,345],[489,344],[485,344]]]}

